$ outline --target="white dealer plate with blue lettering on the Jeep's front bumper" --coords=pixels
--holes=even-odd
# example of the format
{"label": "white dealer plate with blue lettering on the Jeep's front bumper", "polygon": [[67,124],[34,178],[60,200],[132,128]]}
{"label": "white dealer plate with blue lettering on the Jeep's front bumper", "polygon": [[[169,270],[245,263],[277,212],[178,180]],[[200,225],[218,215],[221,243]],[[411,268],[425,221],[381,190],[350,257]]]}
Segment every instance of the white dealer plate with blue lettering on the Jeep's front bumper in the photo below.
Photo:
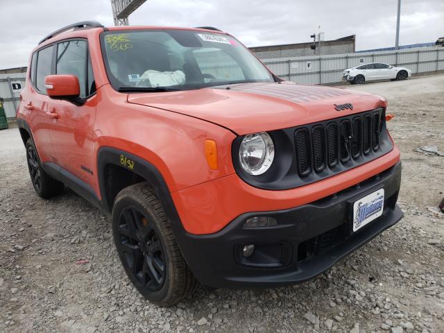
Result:
{"label": "white dealer plate with blue lettering on the Jeep's front bumper", "polygon": [[384,189],[378,189],[353,204],[353,232],[382,215]]}

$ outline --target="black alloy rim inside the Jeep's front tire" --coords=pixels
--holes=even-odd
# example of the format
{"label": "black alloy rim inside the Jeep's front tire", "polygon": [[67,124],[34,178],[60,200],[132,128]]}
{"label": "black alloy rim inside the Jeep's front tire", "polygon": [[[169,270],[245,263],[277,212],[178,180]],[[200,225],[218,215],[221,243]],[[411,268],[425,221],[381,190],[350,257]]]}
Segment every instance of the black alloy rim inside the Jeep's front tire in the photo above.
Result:
{"label": "black alloy rim inside the Jeep's front tire", "polygon": [[135,206],[128,206],[119,216],[119,242],[125,264],[148,291],[162,288],[167,274],[164,250],[152,223]]}

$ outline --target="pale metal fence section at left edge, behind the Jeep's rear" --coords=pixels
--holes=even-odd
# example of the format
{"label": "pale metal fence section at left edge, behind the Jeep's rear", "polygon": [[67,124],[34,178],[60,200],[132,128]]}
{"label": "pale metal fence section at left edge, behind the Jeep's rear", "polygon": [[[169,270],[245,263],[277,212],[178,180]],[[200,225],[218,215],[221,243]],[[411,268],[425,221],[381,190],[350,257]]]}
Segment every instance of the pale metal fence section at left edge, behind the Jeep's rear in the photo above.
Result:
{"label": "pale metal fence section at left edge, behind the Jeep's rear", "polygon": [[0,97],[8,119],[15,118],[25,81],[26,67],[0,69]]}

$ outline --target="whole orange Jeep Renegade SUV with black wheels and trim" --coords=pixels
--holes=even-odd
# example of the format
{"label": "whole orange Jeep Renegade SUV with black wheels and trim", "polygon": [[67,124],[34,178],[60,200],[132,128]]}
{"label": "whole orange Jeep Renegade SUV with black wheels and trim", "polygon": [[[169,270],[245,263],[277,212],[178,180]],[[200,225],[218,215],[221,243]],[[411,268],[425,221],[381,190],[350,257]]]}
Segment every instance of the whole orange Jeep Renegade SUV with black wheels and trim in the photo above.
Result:
{"label": "whole orange Jeep Renegade SUV with black wheels and trim", "polygon": [[33,51],[17,121],[37,194],[110,214],[130,280],[171,305],[304,282],[398,222],[386,106],[282,80],[216,28],[80,22]]}

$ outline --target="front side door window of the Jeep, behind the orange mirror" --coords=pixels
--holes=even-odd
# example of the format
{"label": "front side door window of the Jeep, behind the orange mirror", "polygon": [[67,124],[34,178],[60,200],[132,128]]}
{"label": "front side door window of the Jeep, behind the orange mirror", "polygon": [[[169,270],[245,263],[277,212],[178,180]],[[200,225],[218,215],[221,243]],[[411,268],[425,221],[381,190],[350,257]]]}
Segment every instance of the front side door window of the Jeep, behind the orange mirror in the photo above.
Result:
{"label": "front side door window of the Jeep, behind the orange mirror", "polygon": [[86,94],[86,42],[69,40],[58,44],[56,74],[77,76],[80,84],[80,97]]}

